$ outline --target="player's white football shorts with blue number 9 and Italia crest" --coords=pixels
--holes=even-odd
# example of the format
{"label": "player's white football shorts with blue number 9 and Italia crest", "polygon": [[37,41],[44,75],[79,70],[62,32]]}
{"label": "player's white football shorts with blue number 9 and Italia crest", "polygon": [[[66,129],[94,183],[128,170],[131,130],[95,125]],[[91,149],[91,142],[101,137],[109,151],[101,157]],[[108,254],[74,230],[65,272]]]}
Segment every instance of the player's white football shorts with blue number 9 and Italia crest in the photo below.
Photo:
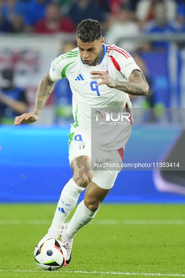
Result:
{"label": "player's white football shorts with blue number 9 and Italia crest", "polygon": [[[91,138],[90,136],[84,132],[79,126],[76,128],[74,126],[71,127],[69,137],[69,163],[71,161],[81,155],[87,155],[91,158],[93,165],[97,165],[93,170],[93,178],[92,181],[97,184],[99,187],[103,189],[110,189],[116,180],[118,173],[121,171],[122,167],[122,158],[123,152],[122,149],[122,157],[119,153],[119,150],[113,151],[105,151],[96,148],[96,154],[93,156],[91,155]],[[97,157],[98,153],[98,157]],[[114,167],[114,170],[110,170],[111,162],[117,162],[117,167]],[[102,161],[106,162],[109,165],[108,169],[105,167],[106,165],[102,165]],[[96,163],[96,164],[95,164]],[[98,170],[98,167],[101,166],[101,170]],[[103,167],[103,170],[102,170]],[[105,167],[105,169],[104,169]]]}

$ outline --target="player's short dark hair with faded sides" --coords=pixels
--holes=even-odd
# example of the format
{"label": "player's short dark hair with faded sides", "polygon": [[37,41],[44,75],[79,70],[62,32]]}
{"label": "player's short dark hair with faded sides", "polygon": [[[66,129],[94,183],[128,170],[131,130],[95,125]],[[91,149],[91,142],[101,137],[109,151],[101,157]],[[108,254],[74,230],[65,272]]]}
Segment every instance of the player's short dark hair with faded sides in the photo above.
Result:
{"label": "player's short dark hair with faded sides", "polygon": [[78,24],[76,35],[82,42],[90,43],[102,37],[102,28],[98,21],[84,19]]}

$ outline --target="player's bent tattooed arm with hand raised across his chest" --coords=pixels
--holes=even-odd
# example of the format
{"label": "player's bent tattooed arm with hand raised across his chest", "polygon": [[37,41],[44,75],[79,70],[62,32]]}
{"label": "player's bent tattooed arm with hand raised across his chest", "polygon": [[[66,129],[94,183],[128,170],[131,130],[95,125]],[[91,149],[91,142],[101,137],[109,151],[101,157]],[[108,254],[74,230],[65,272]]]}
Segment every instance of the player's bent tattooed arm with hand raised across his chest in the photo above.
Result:
{"label": "player's bent tattooed arm with hand raised across his chest", "polygon": [[127,82],[114,80],[105,71],[91,71],[90,73],[96,75],[92,76],[92,79],[102,79],[102,81],[97,83],[96,86],[106,84],[110,88],[116,88],[133,96],[146,96],[149,90],[145,76],[139,70],[132,71],[129,76],[129,81]]}

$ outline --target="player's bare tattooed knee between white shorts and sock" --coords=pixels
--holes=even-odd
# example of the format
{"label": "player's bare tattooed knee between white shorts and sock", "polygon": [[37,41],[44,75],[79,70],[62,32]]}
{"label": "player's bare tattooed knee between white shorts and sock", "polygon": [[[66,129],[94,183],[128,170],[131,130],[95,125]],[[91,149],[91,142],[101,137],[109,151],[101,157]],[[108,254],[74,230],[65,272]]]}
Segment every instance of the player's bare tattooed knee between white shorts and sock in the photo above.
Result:
{"label": "player's bare tattooed knee between white shorts and sock", "polygon": [[84,155],[72,160],[73,180],[80,187],[86,187],[91,181],[91,163]]}

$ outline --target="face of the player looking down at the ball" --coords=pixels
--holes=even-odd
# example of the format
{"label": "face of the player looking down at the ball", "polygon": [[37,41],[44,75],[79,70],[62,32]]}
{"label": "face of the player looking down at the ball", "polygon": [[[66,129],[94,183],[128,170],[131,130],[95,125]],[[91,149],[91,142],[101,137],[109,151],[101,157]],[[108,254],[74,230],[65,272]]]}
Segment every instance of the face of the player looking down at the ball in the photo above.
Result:
{"label": "face of the player looking down at the ball", "polygon": [[95,59],[100,54],[102,50],[102,45],[104,43],[104,37],[101,39],[96,39],[91,43],[84,43],[79,38],[77,38],[78,49],[80,51],[80,56],[86,65],[92,64]]}

